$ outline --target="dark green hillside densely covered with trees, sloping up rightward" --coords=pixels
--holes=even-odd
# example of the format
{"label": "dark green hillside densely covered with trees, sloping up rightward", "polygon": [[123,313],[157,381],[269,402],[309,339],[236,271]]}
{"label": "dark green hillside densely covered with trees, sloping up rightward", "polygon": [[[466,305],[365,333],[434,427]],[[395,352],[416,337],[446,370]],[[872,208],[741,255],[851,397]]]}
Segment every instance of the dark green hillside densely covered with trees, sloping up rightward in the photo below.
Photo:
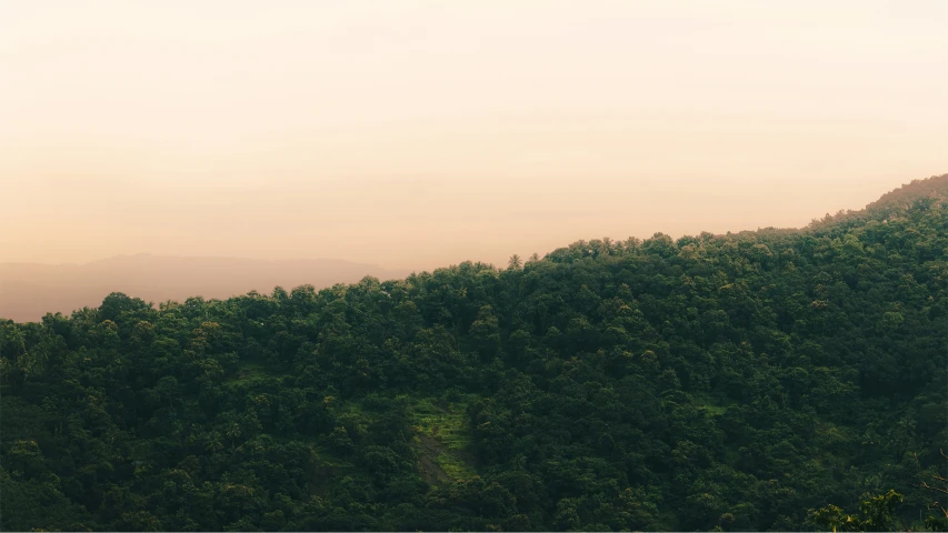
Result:
{"label": "dark green hillside densely covered with trees, sloping up rightward", "polygon": [[942,175],[799,230],[4,321],[0,527],[795,531],[895,490],[878,527],[945,529],[946,253]]}

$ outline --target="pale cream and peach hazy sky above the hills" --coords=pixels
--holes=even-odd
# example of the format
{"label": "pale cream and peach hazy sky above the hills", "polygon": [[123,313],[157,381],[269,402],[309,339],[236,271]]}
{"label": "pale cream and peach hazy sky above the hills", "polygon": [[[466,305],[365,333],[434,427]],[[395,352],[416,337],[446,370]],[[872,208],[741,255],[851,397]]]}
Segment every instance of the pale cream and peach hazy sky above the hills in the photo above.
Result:
{"label": "pale cream and peach hazy sky above the hills", "polygon": [[799,227],[948,172],[946,28],[946,0],[0,0],[0,260]]}

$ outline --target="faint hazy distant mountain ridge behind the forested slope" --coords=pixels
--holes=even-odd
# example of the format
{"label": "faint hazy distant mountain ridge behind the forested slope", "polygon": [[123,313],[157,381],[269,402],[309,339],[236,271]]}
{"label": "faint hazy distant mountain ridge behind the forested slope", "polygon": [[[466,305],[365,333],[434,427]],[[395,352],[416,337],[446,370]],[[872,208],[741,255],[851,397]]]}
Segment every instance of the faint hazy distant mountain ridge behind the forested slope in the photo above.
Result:
{"label": "faint hazy distant mountain ridge behind the forested slope", "polygon": [[366,275],[395,279],[407,271],[329,259],[263,261],[240,258],[119,255],[87,264],[0,263],[0,316],[38,321],[47,312],[69,314],[98,306],[111,292],[146,301],[226,299],[275,286],[318,289],[355,283]]}

